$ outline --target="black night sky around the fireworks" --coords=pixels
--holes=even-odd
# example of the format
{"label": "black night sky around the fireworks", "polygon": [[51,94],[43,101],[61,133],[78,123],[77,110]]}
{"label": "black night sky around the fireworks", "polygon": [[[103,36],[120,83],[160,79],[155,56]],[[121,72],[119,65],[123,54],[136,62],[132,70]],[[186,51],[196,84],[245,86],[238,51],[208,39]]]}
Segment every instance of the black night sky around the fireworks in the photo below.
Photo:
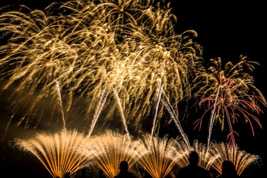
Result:
{"label": "black night sky around the fireworks", "polygon": [[[30,8],[43,9],[53,1],[20,0],[20,1],[4,1],[0,2],[0,7],[8,4],[24,4]],[[8,2],[8,3],[7,3]],[[44,3],[45,2],[45,3]],[[64,2],[64,1],[61,1]],[[167,2],[167,1],[166,1]],[[192,1],[181,2],[178,0],[171,1],[172,13],[176,15],[177,22],[175,24],[175,32],[180,34],[186,30],[193,29],[197,32],[198,37],[195,39],[203,47],[203,58],[209,61],[210,58],[221,57],[223,61],[238,60],[239,55],[247,56],[251,61],[260,64],[255,70],[254,85],[259,88],[264,96],[267,96],[265,67],[266,58],[266,13],[265,5],[262,3],[242,2],[228,3],[219,1],[219,3],[193,3]],[[1,34],[0,34],[1,35]],[[266,113],[266,109],[264,109]],[[265,173],[264,167],[266,162],[266,114],[260,115],[260,122],[263,129],[256,126],[255,137],[252,136],[249,126],[244,126],[244,131],[240,133],[238,139],[240,146],[251,154],[259,155],[263,160],[263,165],[259,169],[252,170],[253,176]],[[16,129],[18,131],[18,129]],[[23,132],[23,131],[22,131]],[[8,177],[13,177],[13,171],[20,172],[23,175],[36,175],[36,173],[28,173],[28,170],[21,166],[26,163],[22,158],[28,155],[4,155],[8,147],[1,147],[1,167],[0,173],[5,172]],[[19,157],[19,158],[16,158]],[[32,171],[46,171],[40,169],[41,163],[31,164]],[[257,172],[258,171],[258,172]],[[252,174],[251,173],[251,174]]]}

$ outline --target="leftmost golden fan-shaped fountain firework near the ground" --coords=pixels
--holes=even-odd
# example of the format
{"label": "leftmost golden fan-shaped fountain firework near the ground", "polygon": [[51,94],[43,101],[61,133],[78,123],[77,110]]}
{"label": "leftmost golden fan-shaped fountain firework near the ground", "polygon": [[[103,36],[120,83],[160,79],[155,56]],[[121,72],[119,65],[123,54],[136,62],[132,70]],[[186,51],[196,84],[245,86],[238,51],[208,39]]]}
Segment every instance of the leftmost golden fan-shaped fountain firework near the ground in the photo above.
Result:
{"label": "leftmost golden fan-shaped fountain firework near the ground", "polygon": [[15,139],[22,151],[33,154],[55,178],[64,177],[88,164],[92,153],[84,154],[84,134],[63,130],[59,133],[39,133],[31,139]]}

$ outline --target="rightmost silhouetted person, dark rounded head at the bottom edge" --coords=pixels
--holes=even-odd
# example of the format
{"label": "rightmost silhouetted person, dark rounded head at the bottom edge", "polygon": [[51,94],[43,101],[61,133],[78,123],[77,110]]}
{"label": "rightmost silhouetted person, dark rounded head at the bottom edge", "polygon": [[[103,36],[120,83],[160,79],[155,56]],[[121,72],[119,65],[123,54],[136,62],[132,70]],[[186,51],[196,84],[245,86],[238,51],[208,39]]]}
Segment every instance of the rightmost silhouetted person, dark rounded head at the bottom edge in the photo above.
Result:
{"label": "rightmost silhouetted person, dark rounded head at the bottom edge", "polygon": [[239,178],[238,172],[231,161],[225,160],[222,163],[222,173],[217,178]]}

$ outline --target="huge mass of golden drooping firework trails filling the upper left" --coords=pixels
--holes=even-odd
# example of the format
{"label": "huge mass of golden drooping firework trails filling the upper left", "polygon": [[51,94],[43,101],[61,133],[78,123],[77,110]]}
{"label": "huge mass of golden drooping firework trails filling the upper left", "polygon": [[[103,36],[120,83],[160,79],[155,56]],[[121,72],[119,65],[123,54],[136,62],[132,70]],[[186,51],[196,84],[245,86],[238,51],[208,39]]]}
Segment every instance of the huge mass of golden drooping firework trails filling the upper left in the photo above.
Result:
{"label": "huge mass of golden drooping firework trails filling the upper left", "polygon": [[[51,118],[49,124],[62,121],[61,108],[66,127],[83,118],[73,127],[90,128],[89,135],[101,113],[105,121],[99,127],[106,127],[117,110],[126,130],[132,124],[140,131],[142,120],[163,115],[163,104],[154,108],[159,91],[176,113],[178,103],[190,96],[188,77],[199,69],[201,50],[192,41],[194,31],[174,33],[169,4],[70,1],[44,11],[4,10],[0,81],[1,92],[11,93],[7,129],[12,122],[27,128],[44,118]],[[56,83],[62,104],[51,102],[58,101]]]}

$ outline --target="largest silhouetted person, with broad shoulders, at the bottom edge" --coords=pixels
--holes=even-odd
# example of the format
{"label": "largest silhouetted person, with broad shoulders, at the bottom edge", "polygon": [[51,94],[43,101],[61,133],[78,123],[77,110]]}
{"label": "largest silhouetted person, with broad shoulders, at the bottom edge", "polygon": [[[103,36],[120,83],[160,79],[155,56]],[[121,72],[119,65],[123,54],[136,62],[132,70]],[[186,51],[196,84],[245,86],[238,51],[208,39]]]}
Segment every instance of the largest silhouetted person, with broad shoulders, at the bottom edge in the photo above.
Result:
{"label": "largest silhouetted person, with broad shoulders, at the bottom edge", "polygon": [[198,166],[199,156],[192,151],[189,155],[189,165],[179,169],[177,178],[212,178],[210,171]]}

